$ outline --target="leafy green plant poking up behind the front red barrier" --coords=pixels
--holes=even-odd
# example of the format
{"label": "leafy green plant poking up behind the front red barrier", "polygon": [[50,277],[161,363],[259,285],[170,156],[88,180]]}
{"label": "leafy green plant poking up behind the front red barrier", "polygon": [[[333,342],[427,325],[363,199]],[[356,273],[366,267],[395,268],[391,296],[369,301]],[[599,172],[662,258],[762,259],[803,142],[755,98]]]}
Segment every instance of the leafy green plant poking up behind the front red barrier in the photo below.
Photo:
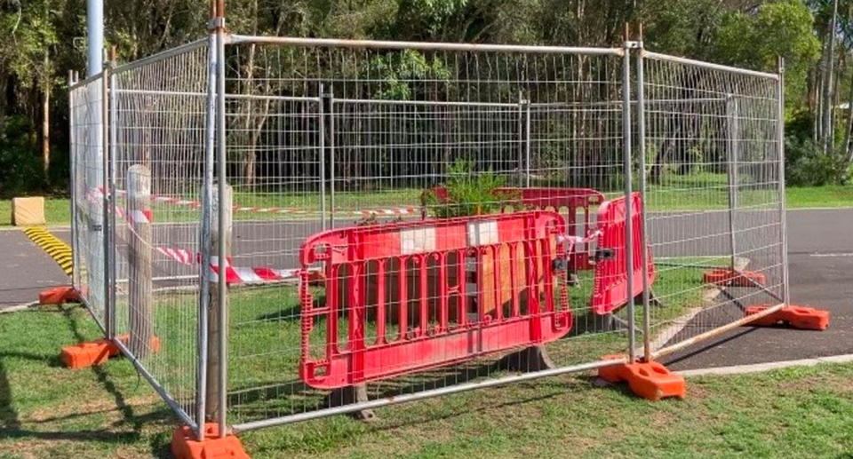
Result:
{"label": "leafy green plant poking up behind the front red barrier", "polygon": [[512,194],[496,194],[504,182],[491,170],[477,172],[473,161],[458,158],[448,166],[447,181],[440,188],[444,193],[428,189],[420,201],[438,218],[489,214],[514,198]]}

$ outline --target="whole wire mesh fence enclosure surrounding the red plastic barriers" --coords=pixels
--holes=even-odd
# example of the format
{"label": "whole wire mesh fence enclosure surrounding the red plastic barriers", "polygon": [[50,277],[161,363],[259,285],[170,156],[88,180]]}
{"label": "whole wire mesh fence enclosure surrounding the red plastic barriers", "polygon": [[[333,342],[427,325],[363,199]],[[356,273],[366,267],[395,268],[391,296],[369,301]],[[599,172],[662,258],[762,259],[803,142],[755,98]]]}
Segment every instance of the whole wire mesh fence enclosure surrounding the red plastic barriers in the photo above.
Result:
{"label": "whole wire mesh fence enclosure surrounding the red plastic barriers", "polygon": [[75,286],[199,436],[664,355],[785,302],[777,75],[222,38],[71,94]]}

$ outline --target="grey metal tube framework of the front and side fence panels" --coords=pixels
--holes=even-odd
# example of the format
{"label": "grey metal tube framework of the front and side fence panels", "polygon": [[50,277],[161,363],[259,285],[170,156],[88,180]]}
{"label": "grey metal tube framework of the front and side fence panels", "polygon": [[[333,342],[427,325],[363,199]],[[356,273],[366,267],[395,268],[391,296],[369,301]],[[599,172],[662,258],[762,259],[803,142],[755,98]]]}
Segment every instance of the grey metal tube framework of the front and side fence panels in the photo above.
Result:
{"label": "grey metal tube framework of the front and side fence panels", "polygon": [[[363,40],[335,40],[335,39],[307,39],[307,38],[288,38],[288,37],[267,37],[267,36],[239,36],[239,35],[227,35],[224,28],[224,20],[219,19],[214,21],[213,24],[214,32],[211,33],[207,39],[199,40],[191,44],[183,45],[178,48],[171,49],[169,51],[163,51],[162,53],[156,54],[149,58],[140,59],[135,62],[131,62],[128,64],[124,64],[122,66],[113,67],[108,65],[103,69],[103,71],[97,75],[93,75],[84,80],[79,80],[76,78],[76,74],[72,74],[69,77],[69,103],[70,103],[70,123],[72,126],[70,132],[70,138],[72,143],[72,154],[71,154],[71,188],[73,191],[73,199],[72,199],[72,240],[75,242],[75,266],[83,268],[87,265],[91,254],[86,255],[85,262],[82,257],[84,254],[80,250],[80,243],[78,241],[81,237],[88,237],[92,233],[92,222],[86,227],[82,227],[80,223],[83,221],[80,212],[81,209],[78,208],[78,199],[82,199],[82,196],[79,196],[79,192],[82,189],[79,177],[76,176],[76,169],[81,167],[81,157],[79,157],[79,152],[77,149],[79,148],[77,143],[80,142],[78,138],[78,132],[76,131],[79,126],[80,120],[78,119],[78,113],[75,109],[77,107],[75,104],[79,103],[79,92],[85,91],[85,88],[90,83],[100,84],[100,91],[102,94],[108,95],[108,97],[102,98],[100,101],[100,122],[96,122],[96,128],[102,132],[100,146],[90,146],[84,145],[83,154],[90,154],[88,151],[90,148],[92,150],[102,149],[103,151],[103,176],[101,178],[100,186],[105,189],[105,192],[101,194],[102,197],[102,209],[103,209],[103,222],[101,223],[108,230],[104,232],[105,237],[103,239],[103,259],[101,260],[103,266],[105,267],[105,273],[103,273],[103,288],[105,290],[104,295],[104,310],[100,312],[99,308],[96,305],[92,304],[91,301],[91,290],[87,289],[81,277],[83,273],[81,273],[82,269],[75,269],[73,280],[74,286],[77,291],[81,294],[81,298],[83,299],[84,305],[89,309],[92,313],[92,317],[99,323],[99,325],[103,328],[105,336],[113,341],[116,346],[121,350],[125,357],[129,358],[132,361],[132,364],[135,368],[140,372],[140,375],[145,377],[149,384],[154,387],[155,391],[163,398],[163,400],[170,406],[170,408],[179,416],[181,422],[187,423],[196,433],[199,439],[203,439],[204,437],[204,429],[203,429],[203,416],[208,412],[208,407],[206,404],[208,403],[208,397],[210,396],[208,391],[208,387],[211,387],[210,381],[208,378],[211,375],[208,374],[209,370],[209,361],[208,354],[210,350],[215,350],[219,354],[219,366],[217,367],[217,372],[215,374],[217,383],[216,386],[219,387],[217,396],[217,405],[218,409],[217,413],[217,421],[219,425],[229,425],[230,431],[240,432],[240,431],[251,431],[254,429],[259,429],[268,426],[280,425],[284,423],[294,423],[299,421],[305,421],[308,419],[315,419],[328,415],[339,415],[345,413],[353,413],[357,411],[361,411],[363,409],[369,408],[379,408],[382,406],[388,406],[398,403],[405,403],[413,400],[423,400],[430,397],[437,397],[444,394],[449,394],[453,392],[463,392],[469,391],[479,388],[492,387],[502,384],[512,384],[522,381],[528,381],[539,377],[546,376],[556,376],[562,375],[570,372],[578,372],[584,370],[590,370],[594,368],[602,368],[610,365],[616,365],[625,361],[634,361],[639,356],[642,356],[645,360],[655,359],[666,355],[671,352],[675,352],[681,350],[682,348],[689,346],[690,344],[697,343],[698,341],[705,340],[707,338],[717,336],[722,332],[730,330],[732,328],[736,328],[741,326],[749,321],[754,321],[758,318],[763,317],[764,315],[774,313],[777,310],[781,309],[789,302],[789,289],[788,289],[788,273],[787,273],[787,254],[786,254],[786,235],[785,235],[785,180],[784,180],[784,119],[783,119],[783,109],[784,109],[784,65],[782,61],[779,62],[778,73],[777,74],[766,74],[761,72],[755,72],[751,70],[739,69],[735,67],[726,67],[715,64],[709,64],[706,62],[701,62],[692,59],[683,59],[677,58],[673,56],[668,56],[665,54],[658,54],[650,51],[645,51],[642,47],[642,42],[632,42],[626,41],[619,48],[584,48],[584,47],[558,47],[558,46],[525,46],[525,45],[490,45],[490,44],[442,44],[442,43],[411,43],[411,42],[380,42],[380,41],[363,41]],[[706,332],[699,334],[697,336],[692,336],[690,339],[683,340],[680,343],[673,344],[667,346],[662,349],[652,350],[650,345],[650,289],[646,279],[646,261],[647,261],[647,251],[642,250],[642,267],[643,267],[643,295],[642,295],[642,348],[638,348],[636,345],[636,337],[635,337],[635,326],[634,326],[634,302],[629,301],[627,303],[627,321],[628,321],[628,337],[627,337],[627,356],[622,360],[597,360],[591,361],[578,365],[571,365],[562,368],[552,368],[540,371],[533,371],[530,373],[524,373],[521,375],[512,375],[512,376],[501,376],[497,378],[489,378],[485,380],[479,380],[474,382],[468,382],[465,384],[456,384],[450,385],[447,387],[441,387],[438,389],[431,389],[422,392],[414,392],[403,395],[395,395],[394,397],[387,397],[375,400],[369,400],[366,402],[352,403],[340,407],[334,408],[324,408],[313,411],[307,411],[295,415],[284,415],[277,416],[272,418],[267,418],[259,421],[245,422],[245,423],[236,423],[229,424],[227,419],[227,352],[228,352],[228,342],[227,342],[227,334],[219,333],[216,336],[216,341],[211,343],[211,336],[209,335],[209,323],[208,323],[208,312],[211,311],[211,304],[209,303],[209,297],[212,289],[216,289],[219,297],[226,297],[227,295],[227,282],[225,276],[219,276],[217,281],[211,280],[211,276],[205,273],[203,268],[199,268],[198,278],[197,278],[197,286],[198,286],[198,295],[197,295],[197,322],[195,323],[196,328],[196,345],[193,352],[195,352],[195,360],[196,360],[196,377],[195,377],[195,410],[187,412],[187,409],[184,408],[179,400],[171,394],[170,390],[167,387],[164,387],[160,381],[149,371],[147,365],[144,361],[137,359],[133,353],[128,349],[127,345],[120,339],[116,337],[116,193],[113,190],[116,190],[116,91],[118,91],[117,83],[116,83],[116,75],[121,72],[129,71],[135,68],[145,67],[150,64],[154,64],[156,62],[160,62],[163,59],[169,59],[173,56],[177,56],[181,53],[197,50],[200,48],[205,48],[207,50],[208,55],[208,81],[206,94],[201,95],[205,98],[206,104],[205,109],[207,112],[206,115],[206,125],[205,125],[205,133],[204,133],[204,146],[203,146],[203,192],[201,199],[201,218],[197,222],[199,225],[199,253],[201,257],[201,266],[210,265],[211,258],[217,257],[219,260],[226,259],[227,249],[224,238],[219,238],[219,244],[215,248],[215,252],[212,251],[211,245],[208,241],[211,241],[211,233],[216,231],[219,234],[226,233],[227,228],[226,225],[226,215],[225,215],[225,206],[216,206],[214,208],[215,202],[223,202],[223,196],[226,195],[227,190],[227,158],[225,154],[227,152],[226,146],[226,138],[227,138],[227,123],[226,123],[226,48],[227,45],[232,44],[275,44],[282,46],[318,46],[318,47],[340,47],[340,48],[371,48],[371,49],[383,49],[383,50],[442,50],[442,51],[495,51],[495,52],[534,52],[534,53],[570,53],[570,54],[580,54],[580,55],[607,55],[613,57],[621,57],[622,58],[622,80],[621,80],[621,89],[622,89],[622,101],[621,101],[621,110],[622,110],[622,142],[624,146],[624,151],[622,154],[623,168],[625,170],[624,176],[624,194],[626,199],[629,199],[631,194],[634,192],[639,192],[642,197],[645,197],[647,194],[647,183],[646,183],[646,173],[647,164],[646,164],[646,113],[648,109],[648,102],[645,99],[645,80],[644,80],[644,60],[645,59],[658,59],[661,61],[673,62],[677,64],[693,66],[698,68],[705,68],[708,70],[713,70],[715,72],[723,72],[737,75],[749,75],[757,78],[769,79],[775,82],[777,92],[777,133],[776,133],[776,142],[777,142],[777,194],[778,194],[778,218],[780,226],[780,234],[781,241],[779,241],[779,245],[781,248],[781,254],[779,255],[781,260],[781,272],[782,272],[782,291],[781,291],[781,299],[776,304],[765,310],[763,313],[759,313],[753,316],[745,317],[738,321],[730,321],[727,324],[722,325],[718,328],[713,328],[711,330],[707,330]],[[636,62],[635,67],[635,75],[632,75],[632,57]],[[632,97],[632,91],[634,93],[634,97]],[[318,102],[318,107],[321,110],[321,116],[323,116],[323,97],[324,95],[319,95],[316,100]],[[88,101],[86,102],[89,103]],[[517,104],[519,118],[518,125],[520,131],[525,131],[526,135],[530,136],[530,101],[521,100],[519,104]],[[635,118],[632,115],[632,111],[635,113]],[[91,112],[87,110],[87,112]],[[636,123],[632,123],[632,120],[636,120]],[[323,123],[320,123],[323,126]],[[634,132],[634,125],[636,126],[636,132]],[[322,129],[322,128],[321,128]],[[91,135],[90,135],[91,137]],[[322,139],[324,136],[321,137]],[[321,140],[323,142],[323,140]],[[634,156],[632,152],[633,143],[637,145],[637,155]],[[326,146],[321,143],[321,148],[334,146]],[[95,152],[97,157],[97,151]],[[530,166],[530,142],[527,143],[526,149],[519,151],[520,157],[525,155],[527,159],[528,166]],[[88,158],[88,156],[86,156]],[[321,158],[324,158],[324,155],[321,154]],[[84,158],[85,159],[85,158]],[[323,159],[321,161],[324,161]],[[642,170],[642,173],[639,174],[638,187],[634,188],[634,184],[632,183],[632,171],[635,167],[635,161],[638,162],[636,166],[638,170]],[[331,170],[334,170],[333,167],[329,164],[324,164],[321,162],[321,168],[325,169],[330,167]],[[730,167],[730,166],[729,166]],[[217,178],[226,178],[226,179],[217,179]],[[530,173],[528,172],[528,184],[530,184]],[[88,186],[92,188],[92,184],[88,183],[83,184],[84,186]],[[333,180],[332,180],[333,181]],[[324,193],[324,188],[323,188]],[[323,194],[322,202],[323,206],[326,205],[326,196]],[[333,197],[332,197],[333,199]],[[334,202],[331,202],[331,208],[334,209]],[[214,212],[216,213],[214,215]],[[626,219],[626,253],[632,253],[632,245],[633,234],[631,227],[631,206],[627,207],[627,219]],[[325,207],[323,207],[323,214],[325,214]],[[643,215],[642,218],[642,233],[645,233],[645,225],[646,225],[646,216]],[[323,219],[323,228],[327,225],[333,225],[333,216],[330,214],[330,221],[326,222]],[[730,221],[734,219],[731,218]],[[97,226],[98,222],[94,222]],[[214,229],[214,224],[218,225],[217,228]],[[734,238],[734,230],[731,230],[732,238]],[[90,248],[91,249],[91,248]],[[734,242],[732,242],[732,252],[734,252]],[[734,254],[732,256],[734,259]],[[628,291],[633,290],[633,284],[636,280],[633,278],[632,270],[627,270],[627,289]],[[92,281],[86,282],[86,285],[91,284]],[[211,283],[215,283],[211,285]],[[103,315],[100,315],[103,313]],[[216,316],[216,321],[219,324],[227,323],[227,310],[225,308],[219,308],[216,311],[219,315]],[[227,433],[227,429],[221,429],[220,435],[225,435]]]}

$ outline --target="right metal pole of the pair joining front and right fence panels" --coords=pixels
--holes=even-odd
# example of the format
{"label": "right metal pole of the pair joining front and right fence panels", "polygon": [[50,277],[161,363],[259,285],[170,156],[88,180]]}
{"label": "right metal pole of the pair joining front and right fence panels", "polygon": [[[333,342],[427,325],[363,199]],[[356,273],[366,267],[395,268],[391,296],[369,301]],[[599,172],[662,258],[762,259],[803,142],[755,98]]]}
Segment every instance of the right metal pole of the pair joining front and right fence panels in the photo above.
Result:
{"label": "right metal pole of the pair joining front and right fence panels", "polygon": [[638,242],[642,246],[640,260],[642,263],[642,358],[645,361],[651,360],[651,336],[650,322],[651,313],[650,305],[650,288],[649,285],[649,249],[646,247],[646,241],[649,240],[649,235],[646,234],[646,95],[645,88],[645,69],[643,68],[644,61],[642,54],[642,26],[640,28],[640,42],[638,44],[639,52],[637,52],[637,148],[640,157],[640,201],[642,202],[642,218],[640,218],[640,234],[642,239]]}

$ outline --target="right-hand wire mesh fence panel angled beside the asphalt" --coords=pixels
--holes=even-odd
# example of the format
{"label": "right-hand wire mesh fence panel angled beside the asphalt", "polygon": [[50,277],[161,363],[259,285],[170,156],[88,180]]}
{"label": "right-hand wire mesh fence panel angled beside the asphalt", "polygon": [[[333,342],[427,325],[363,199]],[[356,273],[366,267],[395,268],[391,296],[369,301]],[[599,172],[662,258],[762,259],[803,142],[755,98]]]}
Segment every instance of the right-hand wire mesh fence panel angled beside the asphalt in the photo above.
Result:
{"label": "right-hand wire mesh fence panel angled beside the asphalt", "polygon": [[658,355],[785,301],[779,77],[645,53],[645,193]]}

